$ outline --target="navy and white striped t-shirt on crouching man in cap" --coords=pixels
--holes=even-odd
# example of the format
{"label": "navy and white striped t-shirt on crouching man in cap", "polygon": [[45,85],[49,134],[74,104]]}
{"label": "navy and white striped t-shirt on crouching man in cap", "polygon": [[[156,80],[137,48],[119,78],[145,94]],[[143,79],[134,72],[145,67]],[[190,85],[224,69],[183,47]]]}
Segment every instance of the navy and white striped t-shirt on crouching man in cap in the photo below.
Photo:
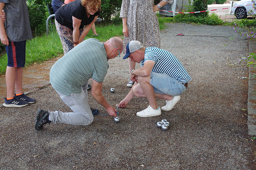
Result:
{"label": "navy and white striped t-shirt on crouching man in cap", "polygon": [[144,60],[140,62],[143,67],[145,61],[151,60],[155,62],[152,72],[166,73],[170,77],[186,83],[191,80],[190,75],[182,66],[181,62],[170,52],[156,47],[147,47],[145,50]]}

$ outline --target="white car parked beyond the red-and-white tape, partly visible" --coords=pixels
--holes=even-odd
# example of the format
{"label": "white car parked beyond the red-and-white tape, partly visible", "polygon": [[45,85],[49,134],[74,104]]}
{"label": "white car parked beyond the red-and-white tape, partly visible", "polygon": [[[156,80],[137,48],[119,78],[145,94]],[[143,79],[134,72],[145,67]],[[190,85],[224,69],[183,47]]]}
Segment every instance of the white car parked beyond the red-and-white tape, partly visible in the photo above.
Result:
{"label": "white car parked beyond the red-and-white tape, partly visible", "polygon": [[[256,0],[253,0],[256,1]],[[234,14],[237,19],[244,19],[249,15],[249,11],[253,9],[253,1],[252,0],[240,0],[237,1],[231,8],[231,14]],[[254,10],[253,10],[254,11]]]}

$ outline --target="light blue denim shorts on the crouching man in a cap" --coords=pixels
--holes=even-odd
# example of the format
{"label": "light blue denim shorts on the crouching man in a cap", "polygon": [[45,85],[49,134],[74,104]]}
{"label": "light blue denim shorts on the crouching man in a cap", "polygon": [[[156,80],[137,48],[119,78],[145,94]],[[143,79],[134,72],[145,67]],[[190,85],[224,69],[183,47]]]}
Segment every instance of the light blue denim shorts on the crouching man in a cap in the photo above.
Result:
{"label": "light blue denim shorts on the crouching man in a cap", "polygon": [[185,85],[178,80],[170,77],[166,73],[150,73],[150,84],[153,86],[155,93],[168,94],[172,96],[181,95],[186,91]]}

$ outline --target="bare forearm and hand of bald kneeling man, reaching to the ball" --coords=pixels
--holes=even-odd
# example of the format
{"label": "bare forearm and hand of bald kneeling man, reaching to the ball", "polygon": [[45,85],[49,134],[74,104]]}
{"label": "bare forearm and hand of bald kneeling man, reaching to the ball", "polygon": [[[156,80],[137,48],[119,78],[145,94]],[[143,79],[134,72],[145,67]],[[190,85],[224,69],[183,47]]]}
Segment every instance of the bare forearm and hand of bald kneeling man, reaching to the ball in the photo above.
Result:
{"label": "bare forearm and hand of bald kneeling man, reaching to the ball", "polygon": [[91,94],[95,98],[95,100],[103,106],[109,115],[111,116],[117,116],[117,110],[110,106],[108,102],[105,100],[104,96],[101,93],[102,90],[102,84],[95,80],[92,81],[92,89]]}

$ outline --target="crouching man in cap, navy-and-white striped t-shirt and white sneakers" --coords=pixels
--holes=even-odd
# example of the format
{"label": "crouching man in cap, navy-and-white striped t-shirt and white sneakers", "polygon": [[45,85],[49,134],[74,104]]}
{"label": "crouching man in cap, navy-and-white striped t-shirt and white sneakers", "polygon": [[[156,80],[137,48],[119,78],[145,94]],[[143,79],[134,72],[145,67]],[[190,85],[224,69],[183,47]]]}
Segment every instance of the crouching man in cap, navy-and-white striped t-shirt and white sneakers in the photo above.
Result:
{"label": "crouching man in cap, navy-and-white striped t-shirt and white sneakers", "polygon": [[[137,116],[150,117],[161,115],[161,109],[170,111],[181,98],[180,95],[187,89],[190,75],[181,62],[170,52],[156,47],[145,47],[139,41],[130,41],[126,46],[126,54],[123,59],[131,58],[131,61],[140,63],[139,69],[131,70],[131,80],[135,84],[129,94],[118,107],[126,107],[134,97],[146,97],[149,106],[137,112]],[[156,98],[166,100],[166,105],[160,107]]]}

